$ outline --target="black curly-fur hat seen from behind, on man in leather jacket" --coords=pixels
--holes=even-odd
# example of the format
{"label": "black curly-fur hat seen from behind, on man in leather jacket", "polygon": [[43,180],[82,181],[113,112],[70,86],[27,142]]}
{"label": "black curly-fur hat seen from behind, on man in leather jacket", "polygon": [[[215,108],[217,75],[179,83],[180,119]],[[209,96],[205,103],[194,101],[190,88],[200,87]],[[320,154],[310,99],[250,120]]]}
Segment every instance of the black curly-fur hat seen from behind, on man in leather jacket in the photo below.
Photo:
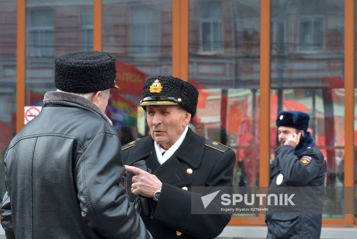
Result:
{"label": "black curly-fur hat seen from behind, on man in leather jacket", "polygon": [[101,51],[80,51],[55,59],[55,86],[73,93],[91,93],[119,87],[115,83],[115,56]]}

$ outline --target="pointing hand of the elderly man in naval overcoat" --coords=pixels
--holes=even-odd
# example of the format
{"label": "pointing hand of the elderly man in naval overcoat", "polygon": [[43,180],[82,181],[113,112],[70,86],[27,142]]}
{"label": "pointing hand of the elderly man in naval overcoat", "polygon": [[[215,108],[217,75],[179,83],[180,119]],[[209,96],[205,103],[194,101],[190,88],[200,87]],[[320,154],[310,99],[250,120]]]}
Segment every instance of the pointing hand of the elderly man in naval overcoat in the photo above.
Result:
{"label": "pointing hand of the elderly man in naval overcoat", "polygon": [[155,175],[134,166],[125,165],[125,168],[135,174],[132,178],[133,184],[131,184],[131,187],[134,189],[132,193],[135,195],[140,194],[147,198],[153,198],[154,193],[162,188],[161,181]]}

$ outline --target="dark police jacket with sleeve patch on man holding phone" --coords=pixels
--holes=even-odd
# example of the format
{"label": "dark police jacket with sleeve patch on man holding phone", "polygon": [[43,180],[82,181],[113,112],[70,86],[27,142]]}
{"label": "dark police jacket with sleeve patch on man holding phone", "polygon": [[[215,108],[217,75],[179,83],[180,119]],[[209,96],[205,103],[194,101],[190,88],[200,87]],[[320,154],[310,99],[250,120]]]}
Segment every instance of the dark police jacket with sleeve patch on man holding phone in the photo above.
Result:
{"label": "dark police jacket with sleeve patch on man holding phone", "polygon": [[[312,136],[306,133],[296,149],[290,145],[277,148],[269,187],[324,186],[326,162],[314,145]],[[267,239],[318,239],[321,222],[321,214],[267,214]]]}

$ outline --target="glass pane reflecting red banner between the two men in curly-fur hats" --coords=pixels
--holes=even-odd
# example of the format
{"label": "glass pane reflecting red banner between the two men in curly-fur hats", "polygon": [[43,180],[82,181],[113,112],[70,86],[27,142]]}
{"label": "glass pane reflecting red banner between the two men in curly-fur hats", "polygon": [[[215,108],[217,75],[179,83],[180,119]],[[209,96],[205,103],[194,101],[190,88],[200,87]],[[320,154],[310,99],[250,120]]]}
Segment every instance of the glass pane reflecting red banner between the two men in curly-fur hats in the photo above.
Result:
{"label": "glass pane reflecting red banner between the two men in curly-fur hats", "polygon": [[116,56],[119,91],[112,91],[106,114],[121,144],[149,135],[138,107],[144,82],[172,75],[172,1],[102,1],[102,50]]}

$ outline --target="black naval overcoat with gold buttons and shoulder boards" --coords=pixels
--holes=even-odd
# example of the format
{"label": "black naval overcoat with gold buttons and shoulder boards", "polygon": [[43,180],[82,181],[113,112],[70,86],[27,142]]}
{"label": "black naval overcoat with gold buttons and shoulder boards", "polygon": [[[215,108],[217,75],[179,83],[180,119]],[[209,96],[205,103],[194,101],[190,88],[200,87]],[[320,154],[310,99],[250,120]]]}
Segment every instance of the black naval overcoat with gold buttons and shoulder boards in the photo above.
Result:
{"label": "black naval overcoat with gold buttons and shoulder boards", "polygon": [[[227,214],[191,214],[192,186],[232,186],[236,156],[229,147],[206,140],[189,128],[181,146],[162,165],[151,136],[122,146],[122,158],[125,165],[145,160],[162,182],[159,201],[150,198],[150,215],[143,216],[154,239],[216,238],[230,221]],[[133,176],[128,172],[131,202],[135,199],[130,190]]]}

